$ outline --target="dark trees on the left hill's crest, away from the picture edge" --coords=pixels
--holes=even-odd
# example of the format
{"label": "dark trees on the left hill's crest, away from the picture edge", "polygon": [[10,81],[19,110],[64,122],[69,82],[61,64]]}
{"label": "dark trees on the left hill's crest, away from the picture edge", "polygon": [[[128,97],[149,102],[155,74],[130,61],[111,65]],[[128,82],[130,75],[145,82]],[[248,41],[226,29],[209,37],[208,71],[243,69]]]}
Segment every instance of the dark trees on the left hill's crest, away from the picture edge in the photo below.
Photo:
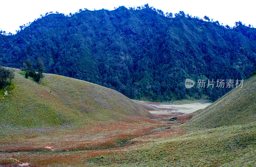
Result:
{"label": "dark trees on the left hill's crest, away from the picture edge", "polygon": [[25,71],[25,78],[28,78],[30,76],[36,82],[40,82],[40,80],[44,78],[44,75],[43,75],[44,62],[40,57],[37,58],[36,66],[37,66],[38,72],[36,72],[35,69],[33,68],[31,61],[27,59],[26,62],[23,63],[23,67],[21,68],[21,71]]}

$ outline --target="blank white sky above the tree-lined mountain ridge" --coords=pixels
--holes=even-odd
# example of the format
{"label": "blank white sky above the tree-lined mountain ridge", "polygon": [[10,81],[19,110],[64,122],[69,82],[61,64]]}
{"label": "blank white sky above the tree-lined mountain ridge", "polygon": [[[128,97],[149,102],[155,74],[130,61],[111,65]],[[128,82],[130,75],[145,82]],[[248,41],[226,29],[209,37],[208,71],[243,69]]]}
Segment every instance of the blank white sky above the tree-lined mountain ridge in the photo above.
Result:
{"label": "blank white sky above the tree-lined mountain ridge", "polygon": [[33,22],[40,17],[40,14],[45,15],[49,11],[69,14],[84,8],[114,10],[119,6],[129,8],[144,4],[161,9],[164,13],[174,14],[184,11],[199,18],[204,18],[206,15],[214,21],[218,20],[220,24],[228,24],[231,27],[236,21],[242,21],[246,26],[251,24],[256,27],[255,5],[252,2],[251,0],[1,0],[0,30],[15,34],[15,30],[19,30],[20,25]]}

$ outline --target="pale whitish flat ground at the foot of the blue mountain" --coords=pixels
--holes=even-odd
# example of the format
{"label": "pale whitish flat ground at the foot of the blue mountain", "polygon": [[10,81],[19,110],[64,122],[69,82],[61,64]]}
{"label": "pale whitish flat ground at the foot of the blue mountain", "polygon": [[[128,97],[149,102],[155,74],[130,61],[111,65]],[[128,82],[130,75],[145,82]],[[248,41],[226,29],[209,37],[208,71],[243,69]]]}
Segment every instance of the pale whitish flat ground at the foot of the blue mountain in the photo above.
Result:
{"label": "pale whitish flat ground at the foot of the blue mountain", "polygon": [[195,112],[196,110],[204,109],[208,105],[212,104],[211,102],[207,103],[190,103],[190,104],[149,104],[152,107],[157,108],[158,110],[149,111],[152,114],[170,114],[173,112],[181,112],[184,114],[189,114]]}

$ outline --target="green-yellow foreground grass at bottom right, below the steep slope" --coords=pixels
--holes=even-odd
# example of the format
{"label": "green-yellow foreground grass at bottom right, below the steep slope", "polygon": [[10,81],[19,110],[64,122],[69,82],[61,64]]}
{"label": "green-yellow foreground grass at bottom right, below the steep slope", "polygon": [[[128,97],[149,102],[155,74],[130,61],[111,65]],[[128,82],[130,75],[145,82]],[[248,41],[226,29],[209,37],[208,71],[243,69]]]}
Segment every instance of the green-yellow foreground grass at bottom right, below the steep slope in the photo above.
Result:
{"label": "green-yellow foreground grass at bottom right, below the steep slope", "polygon": [[[136,149],[109,152],[104,159],[93,157],[86,162],[90,165],[220,166],[234,163],[238,157],[250,154],[256,148],[255,130],[255,122],[187,132],[173,138],[170,130],[167,133],[169,140],[168,136],[164,140],[161,140],[163,137],[151,139],[151,143]],[[160,133],[164,135],[166,132]]]}

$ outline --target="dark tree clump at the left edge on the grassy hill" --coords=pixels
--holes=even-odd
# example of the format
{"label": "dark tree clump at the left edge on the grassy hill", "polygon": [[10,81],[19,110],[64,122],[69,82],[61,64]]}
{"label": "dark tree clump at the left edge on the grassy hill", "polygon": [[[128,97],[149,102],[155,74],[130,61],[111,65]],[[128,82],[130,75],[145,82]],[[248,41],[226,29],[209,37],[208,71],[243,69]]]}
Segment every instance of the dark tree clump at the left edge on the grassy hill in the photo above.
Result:
{"label": "dark tree clump at the left edge on the grassy hill", "polygon": [[11,85],[11,80],[14,78],[15,70],[0,66],[0,89]]}

